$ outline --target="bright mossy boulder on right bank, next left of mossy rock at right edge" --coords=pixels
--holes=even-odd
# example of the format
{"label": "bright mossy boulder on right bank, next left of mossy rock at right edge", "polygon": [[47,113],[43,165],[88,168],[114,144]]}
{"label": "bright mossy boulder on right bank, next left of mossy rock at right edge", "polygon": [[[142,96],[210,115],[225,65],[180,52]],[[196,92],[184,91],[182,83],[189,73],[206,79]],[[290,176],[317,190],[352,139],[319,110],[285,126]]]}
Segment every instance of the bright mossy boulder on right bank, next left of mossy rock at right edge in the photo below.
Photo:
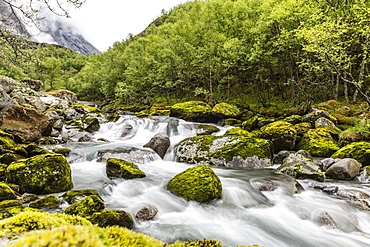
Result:
{"label": "bright mossy boulder on right bank, next left of mossy rock at right edge", "polygon": [[302,137],[298,149],[306,150],[312,156],[330,157],[339,150],[339,146],[328,130],[319,128],[310,129]]}

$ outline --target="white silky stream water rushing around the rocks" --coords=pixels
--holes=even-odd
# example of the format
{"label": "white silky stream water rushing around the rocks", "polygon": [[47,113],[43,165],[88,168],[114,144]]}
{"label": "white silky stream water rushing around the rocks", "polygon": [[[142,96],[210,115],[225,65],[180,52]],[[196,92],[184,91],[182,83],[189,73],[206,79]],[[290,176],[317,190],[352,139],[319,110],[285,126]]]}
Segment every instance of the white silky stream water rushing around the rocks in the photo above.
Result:
{"label": "white silky stream water rushing around the rocks", "polygon": [[[222,135],[222,128],[217,135]],[[122,146],[142,148],[155,134],[170,136],[171,147],[162,160],[158,155],[138,164],[146,174],[142,179],[108,179],[105,162],[97,162],[97,152]],[[122,209],[131,215],[146,205],[158,209],[156,217],[135,222],[135,231],[151,234],[164,242],[216,239],[224,246],[370,246],[370,214],[345,200],[312,189],[310,181],[299,181],[305,191],[293,193],[293,180],[273,169],[233,170],[212,167],[220,177],[222,199],[209,204],[188,202],[165,189],[176,174],[192,165],[176,162],[173,148],[184,138],[195,136],[197,128],[169,117],[139,119],[122,116],[116,123],[101,126],[95,138],[110,142],[70,143],[78,154],[72,164],[74,189],[99,191],[108,209]],[[255,182],[272,181],[275,191],[260,192]],[[312,181],[311,181],[312,182]],[[342,189],[370,194],[367,183],[337,183]],[[319,217],[328,213],[337,229],[320,226]],[[134,218],[134,217],[133,217]]]}

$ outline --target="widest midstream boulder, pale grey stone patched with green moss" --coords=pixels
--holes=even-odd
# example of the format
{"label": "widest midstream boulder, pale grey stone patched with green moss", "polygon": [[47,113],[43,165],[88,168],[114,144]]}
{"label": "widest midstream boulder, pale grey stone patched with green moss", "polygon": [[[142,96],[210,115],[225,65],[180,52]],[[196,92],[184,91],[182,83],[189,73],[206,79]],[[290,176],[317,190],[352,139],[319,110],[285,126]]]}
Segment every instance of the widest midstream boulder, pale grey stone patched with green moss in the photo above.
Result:
{"label": "widest midstream boulder, pale grey stone patched with green moss", "polygon": [[[241,129],[223,136],[196,136],[181,141],[175,148],[180,162],[226,167],[264,168],[270,166],[272,143],[255,138]],[[239,133],[239,134],[238,134]]]}

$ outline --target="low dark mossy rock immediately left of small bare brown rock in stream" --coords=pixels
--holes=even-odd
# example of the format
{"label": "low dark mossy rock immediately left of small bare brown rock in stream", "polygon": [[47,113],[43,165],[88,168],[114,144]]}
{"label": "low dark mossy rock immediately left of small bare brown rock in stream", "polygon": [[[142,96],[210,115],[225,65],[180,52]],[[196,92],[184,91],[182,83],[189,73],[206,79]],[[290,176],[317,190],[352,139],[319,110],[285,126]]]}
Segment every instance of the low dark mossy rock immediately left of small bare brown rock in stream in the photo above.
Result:
{"label": "low dark mossy rock immediately left of small bare brown rock in stream", "polygon": [[130,214],[123,210],[103,210],[94,213],[90,219],[93,224],[100,227],[120,226],[132,229],[134,221]]}

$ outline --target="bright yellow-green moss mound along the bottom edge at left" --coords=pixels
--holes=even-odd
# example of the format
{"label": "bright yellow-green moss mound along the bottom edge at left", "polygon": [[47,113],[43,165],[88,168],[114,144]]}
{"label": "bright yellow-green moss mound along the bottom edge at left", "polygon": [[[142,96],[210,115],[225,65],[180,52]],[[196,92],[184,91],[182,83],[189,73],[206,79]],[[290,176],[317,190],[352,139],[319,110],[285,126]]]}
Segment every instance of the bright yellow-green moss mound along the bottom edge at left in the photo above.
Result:
{"label": "bright yellow-green moss mound along the bottom edge at left", "polygon": [[92,226],[60,226],[25,234],[10,247],[104,247],[109,246],[104,231]]}

